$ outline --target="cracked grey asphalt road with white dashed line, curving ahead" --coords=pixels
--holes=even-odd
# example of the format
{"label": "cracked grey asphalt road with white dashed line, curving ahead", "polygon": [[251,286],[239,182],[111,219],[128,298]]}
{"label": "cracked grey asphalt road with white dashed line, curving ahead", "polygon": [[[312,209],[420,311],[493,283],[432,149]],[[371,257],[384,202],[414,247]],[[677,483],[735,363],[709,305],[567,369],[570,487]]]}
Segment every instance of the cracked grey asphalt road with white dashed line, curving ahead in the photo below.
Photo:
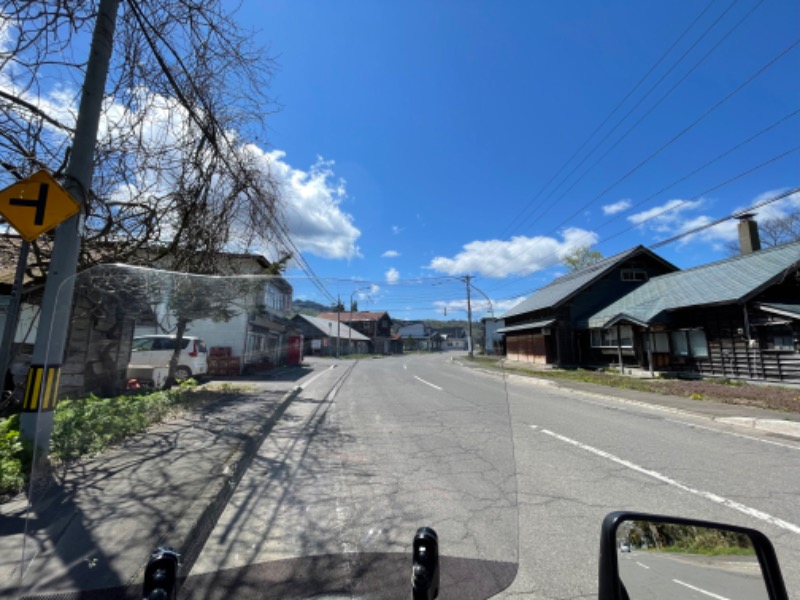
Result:
{"label": "cracked grey asphalt road with white dashed line, curving ahead", "polygon": [[[484,597],[518,563],[499,597],[592,598],[614,510],[760,529],[800,590],[796,441],[448,355],[320,364],[301,384],[194,565],[192,597],[230,581],[286,594],[276,573],[331,594],[403,587],[414,529],[432,525],[463,559],[444,563],[440,597]],[[342,587],[352,575],[363,588]],[[695,593],[710,597],[672,597]]]}

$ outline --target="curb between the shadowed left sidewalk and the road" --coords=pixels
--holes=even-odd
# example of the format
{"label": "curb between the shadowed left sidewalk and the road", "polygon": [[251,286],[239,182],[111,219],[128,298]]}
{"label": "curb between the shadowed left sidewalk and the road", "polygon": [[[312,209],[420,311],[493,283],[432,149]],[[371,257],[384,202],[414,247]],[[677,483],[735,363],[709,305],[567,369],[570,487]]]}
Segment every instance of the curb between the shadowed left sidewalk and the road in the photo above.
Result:
{"label": "curb between the shadowed left sidewalk and the road", "polygon": [[[181,585],[186,574],[191,572],[192,566],[203,550],[203,546],[225,510],[234,490],[239,485],[239,481],[250,467],[256,452],[300,391],[300,387],[294,387],[287,392],[270,417],[233,450],[225,470],[209,483],[204,493],[187,511],[187,517],[182,519],[178,525],[179,531],[175,532],[177,534],[175,538],[181,538],[181,536],[183,538],[171,541],[180,552]],[[184,529],[184,526],[188,527],[188,531],[182,533],[180,530]]]}

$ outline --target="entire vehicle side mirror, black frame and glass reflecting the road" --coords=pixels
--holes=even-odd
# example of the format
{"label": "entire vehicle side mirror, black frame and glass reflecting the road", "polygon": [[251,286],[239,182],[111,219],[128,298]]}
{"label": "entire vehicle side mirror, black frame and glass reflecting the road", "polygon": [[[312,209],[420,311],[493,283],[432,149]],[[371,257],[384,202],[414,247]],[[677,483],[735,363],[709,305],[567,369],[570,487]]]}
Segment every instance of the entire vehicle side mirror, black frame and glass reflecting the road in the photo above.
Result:
{"label": "entire vehicle side mirror, black frame and glass reflecting the road", "polygon": [[760,531],[665,515],[614,512],[600,532],[599,600],[788,600],[775,549]]}

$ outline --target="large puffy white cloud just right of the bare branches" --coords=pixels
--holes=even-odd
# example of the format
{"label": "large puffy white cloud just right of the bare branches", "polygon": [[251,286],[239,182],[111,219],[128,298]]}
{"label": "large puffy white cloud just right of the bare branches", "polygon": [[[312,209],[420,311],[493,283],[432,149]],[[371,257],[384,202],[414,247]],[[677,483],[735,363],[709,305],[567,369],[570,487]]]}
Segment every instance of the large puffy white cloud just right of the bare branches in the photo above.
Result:
{"label": "large puffy white cloud just right of the bare branches", "polygon": [[249,148],[261,154],[265,168],[278,181],[286,203],[289,234],[301,252],[331,259],[361,256],[356,244],[361,231],[341,208],[347,191],[345,181],[334,177],[333,161],[320,158],[304,171],[287,163],[281,150]]}

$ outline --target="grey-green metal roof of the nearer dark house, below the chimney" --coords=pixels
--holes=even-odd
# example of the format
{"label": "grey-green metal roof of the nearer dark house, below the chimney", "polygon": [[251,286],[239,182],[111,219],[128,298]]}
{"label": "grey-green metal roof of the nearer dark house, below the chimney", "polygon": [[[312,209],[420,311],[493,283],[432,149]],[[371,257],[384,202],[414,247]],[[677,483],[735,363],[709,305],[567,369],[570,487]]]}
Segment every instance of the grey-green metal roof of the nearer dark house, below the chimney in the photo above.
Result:
{"label": "grey-green metal roof of the nearer dark house, below the chimney", "polygon": [[800,242],[795,242],[660,275],[589,317],[588,326],[650,324],[679,308],[746,302],[799,267]]}

